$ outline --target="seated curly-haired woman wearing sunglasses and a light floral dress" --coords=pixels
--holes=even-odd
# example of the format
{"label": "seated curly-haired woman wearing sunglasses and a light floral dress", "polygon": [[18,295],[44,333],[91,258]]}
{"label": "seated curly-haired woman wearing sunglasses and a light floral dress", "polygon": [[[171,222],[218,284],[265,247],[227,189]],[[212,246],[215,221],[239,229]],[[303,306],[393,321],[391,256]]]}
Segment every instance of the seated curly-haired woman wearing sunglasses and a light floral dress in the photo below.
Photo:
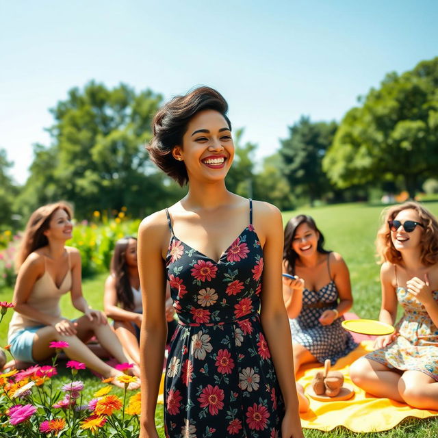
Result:
{"label": "seated curly-haired woman wearing sunglasses and a light floral dress", "polygon": [[381,268],[381,322],[394,324],[374,352],[350,367],[352,381],[376,397],[420,409],[438,409],[438,222],[409,202],[389,208],[377,234]]}

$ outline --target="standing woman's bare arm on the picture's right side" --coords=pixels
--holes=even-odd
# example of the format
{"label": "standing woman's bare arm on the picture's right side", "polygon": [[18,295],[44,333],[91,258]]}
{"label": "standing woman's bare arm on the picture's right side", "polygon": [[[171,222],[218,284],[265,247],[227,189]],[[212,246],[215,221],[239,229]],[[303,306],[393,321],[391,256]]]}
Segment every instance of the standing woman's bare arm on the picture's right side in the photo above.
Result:
{"label": "standing woman's bare arm on the picture's right side", "polygon": [[[289,438],[302,437],[298,398],[292,360],[292,338],[287,313],[281,294],[281,255],[283,224],[279,209],[267,203],[255,203],[255,228],[261,229],[263,245],[263,277],[261,287],[261,325],[272,355],[285,402],[286,415],[282,430]],[[259,236],[260,237],[260,236]]]}

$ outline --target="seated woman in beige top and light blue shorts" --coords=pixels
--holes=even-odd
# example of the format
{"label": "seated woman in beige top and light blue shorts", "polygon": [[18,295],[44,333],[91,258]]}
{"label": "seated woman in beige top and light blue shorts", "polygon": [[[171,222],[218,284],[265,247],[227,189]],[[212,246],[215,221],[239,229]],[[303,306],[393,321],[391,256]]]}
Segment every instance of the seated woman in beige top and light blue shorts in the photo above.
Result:
{"label": "seated woman in beige top and light blue shorts", "polygon": [[[102,312],[90,309],[81,290],[81,256],[65,246],[72,237],[72,211],[66,203],[40,207],[27,223],[16,259],[18,276],[14,289],[14,315],[8,342],[12,355],[27,362],[44,361],[53,355],[52,341],[66,341],[64,352],[105,378],[122,374],[88,348],[93,335],[120,363],[128,359]],[[73,306],[83,316],[70,321],[61,315],[60,298],[70,292]],[[138,368],[134,368],[137,374]],[[124,387],[115,378],[113,383]],[[131,383],[131,389],[138,387]]]}

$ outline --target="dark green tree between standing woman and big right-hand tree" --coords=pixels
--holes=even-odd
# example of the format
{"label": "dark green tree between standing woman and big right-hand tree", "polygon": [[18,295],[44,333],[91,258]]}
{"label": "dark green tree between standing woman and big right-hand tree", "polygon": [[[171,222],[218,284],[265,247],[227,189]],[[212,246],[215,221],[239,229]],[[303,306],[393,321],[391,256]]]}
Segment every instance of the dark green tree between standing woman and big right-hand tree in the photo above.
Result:
{"label": "dark green tree between standing woman and big right-hand tree", "polygon": [[308,196],[311,204],[331,191],[331,184],[322,170],[322,159],[333,141],[335,122],[311,122],[302,116],[289,127],[289,138],[281,140],[283,172],[289,186],[298,195]]}

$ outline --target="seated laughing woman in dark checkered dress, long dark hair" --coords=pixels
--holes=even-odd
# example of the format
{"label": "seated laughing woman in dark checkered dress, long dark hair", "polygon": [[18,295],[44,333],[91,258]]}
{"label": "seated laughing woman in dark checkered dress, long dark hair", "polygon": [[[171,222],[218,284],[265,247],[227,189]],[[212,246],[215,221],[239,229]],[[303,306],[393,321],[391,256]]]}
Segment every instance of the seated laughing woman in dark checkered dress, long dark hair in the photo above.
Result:
{"label": "seated laughing woman in dark checkered dress, long dark hair", "polygon": [[350,274],[339,254],[324,249],[324,235],[311,216],[287,222],[283,272],[295,276],[283,276],[295,371],[307,362],[330,359],[333,365],[357,346],[341,326],[353,301]]}

